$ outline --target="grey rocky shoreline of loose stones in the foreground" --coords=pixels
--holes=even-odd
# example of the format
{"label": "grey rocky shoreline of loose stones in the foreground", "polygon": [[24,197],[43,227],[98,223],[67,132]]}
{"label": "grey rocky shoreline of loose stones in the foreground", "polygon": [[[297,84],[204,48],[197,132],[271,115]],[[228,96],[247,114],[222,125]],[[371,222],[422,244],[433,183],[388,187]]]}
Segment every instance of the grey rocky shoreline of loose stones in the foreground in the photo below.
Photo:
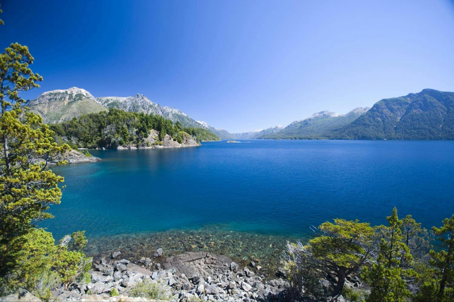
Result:
{"label": "grey rocky shoreline of loose stones in the foreground", "polygon": [[[143,257],[133,263],[123,259],[120,251],[114,251],[110,259],[94,262],[88,284],[73,284],[67,290],[56,289],[52,292],[54,301],[288,301],[286,288],[289,283],[283,269],[276,271],[273,279],[265,281],[260,266],[254,261],[242,267],[223,255],[187,252],[168,257],[161,265],[156,260],[162,254],[163,250],[158,249],[153,259]],[[346,281],[345,286],[359,286],[359,280],[355,278]],[[138,283],[154,284],[162,295],[157,299],[139,297],[133,293]],[[327,280],[320,280],[320,283],[328,294],[330,283]],[[3,297],[0,301],[25,300]],[[345,299],[327,297],[326,301]]]}

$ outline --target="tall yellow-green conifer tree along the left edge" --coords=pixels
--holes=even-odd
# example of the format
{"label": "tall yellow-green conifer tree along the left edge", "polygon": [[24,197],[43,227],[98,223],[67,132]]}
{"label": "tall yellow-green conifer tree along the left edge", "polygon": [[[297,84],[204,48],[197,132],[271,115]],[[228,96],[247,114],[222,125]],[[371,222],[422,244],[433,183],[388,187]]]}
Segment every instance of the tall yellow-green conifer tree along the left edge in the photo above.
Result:
{"label": "tall yellow-green conifer tree along the left edge", "polygon": [[69,150],[57,145],[49,126],[23,106],[19,92],[42,81],[29,68],[33,60],[18,43],[0,54],[0,283],[17,266],[19,239],[37,221],[52,217],[45,210],[60,202],[63,177],[49,170],[48,163]]}

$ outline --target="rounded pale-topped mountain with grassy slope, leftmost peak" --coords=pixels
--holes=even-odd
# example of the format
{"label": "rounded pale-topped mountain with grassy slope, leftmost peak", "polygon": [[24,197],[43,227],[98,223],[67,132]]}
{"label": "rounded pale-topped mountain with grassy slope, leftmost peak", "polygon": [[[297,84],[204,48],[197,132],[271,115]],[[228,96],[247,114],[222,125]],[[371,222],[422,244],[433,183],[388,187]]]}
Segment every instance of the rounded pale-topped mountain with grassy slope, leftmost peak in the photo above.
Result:
{"label": "rounded pale-topped mountain with grassy slope, leftmost peak", "polygon": [[44,92],[28,106],[43,117],[44,123],[55,124],[87,113],[105,111],[88,91],[72,87]]}

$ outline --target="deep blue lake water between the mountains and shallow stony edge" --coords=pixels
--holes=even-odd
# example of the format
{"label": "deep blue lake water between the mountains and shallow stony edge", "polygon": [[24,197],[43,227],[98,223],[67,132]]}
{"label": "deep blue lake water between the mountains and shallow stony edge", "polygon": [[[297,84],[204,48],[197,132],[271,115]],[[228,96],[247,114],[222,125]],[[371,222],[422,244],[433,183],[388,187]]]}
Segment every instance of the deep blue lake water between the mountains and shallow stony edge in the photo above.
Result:
{"label": "deep blue lake water between the mountains and shallow stony edge", "polygon": [[55,218],[61,238],[170,229],[310,236],[333,218],[384,224],[393,206],[425,227],[454,214],[454,141],[252,140],[201,147],[91,150],[68,164]]}

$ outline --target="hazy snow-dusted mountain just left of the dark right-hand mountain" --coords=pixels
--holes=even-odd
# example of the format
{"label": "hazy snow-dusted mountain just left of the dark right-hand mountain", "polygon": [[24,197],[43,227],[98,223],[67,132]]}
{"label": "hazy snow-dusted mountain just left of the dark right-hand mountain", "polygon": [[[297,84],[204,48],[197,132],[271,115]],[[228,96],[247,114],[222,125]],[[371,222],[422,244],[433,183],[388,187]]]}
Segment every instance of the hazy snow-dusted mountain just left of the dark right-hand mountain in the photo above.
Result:
{"label": "hazy snow-dusted mountain just left of the dark right-hand mountain", "polygon": [[322,138],[325,133],[350,124],[369,109],[358,107],[345,115],[327,110],[320,111],[306,117],[304,120],[292,122],[279,132],[262,135],[259,139]]}

